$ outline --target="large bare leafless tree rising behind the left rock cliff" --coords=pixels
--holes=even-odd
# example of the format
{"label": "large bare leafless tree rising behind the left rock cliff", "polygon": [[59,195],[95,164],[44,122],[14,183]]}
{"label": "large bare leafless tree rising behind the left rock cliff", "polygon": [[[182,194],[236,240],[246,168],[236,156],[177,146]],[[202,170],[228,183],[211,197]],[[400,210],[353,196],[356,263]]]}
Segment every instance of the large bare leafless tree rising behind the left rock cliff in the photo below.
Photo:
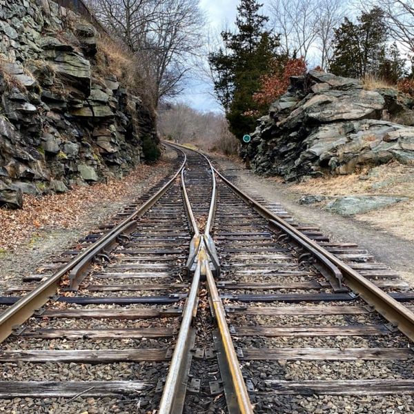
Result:
{"label": "large bare leafless tree rising behind the left rock cliff", "polygon": [[137,56],[155,108],[183,88],[202,44],[204,15],[197,0],[91,0],[104,26]]}

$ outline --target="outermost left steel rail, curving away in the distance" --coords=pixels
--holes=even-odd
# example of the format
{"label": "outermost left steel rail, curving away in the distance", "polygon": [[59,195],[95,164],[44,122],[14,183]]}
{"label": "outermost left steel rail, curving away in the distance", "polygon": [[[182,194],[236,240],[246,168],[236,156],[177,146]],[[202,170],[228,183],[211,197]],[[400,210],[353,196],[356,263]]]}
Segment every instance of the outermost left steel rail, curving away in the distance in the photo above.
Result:
{"label": "outermost left steel rail, curving away in the distance", "polygon": [[[181,150],[181,148],[179,148]],[[135,213],[132,213],[126,219],[121,221],[115,228],[112,228],[109,233],[104,235],[99,239],[95,244],[92,244],[89,248],[86,248],[82,253],[77,255],[72,259],[68,264],[59,269],[56,273],[48,277],[44,282],[41,282],[39,286],[34,288],[26,296],[22,297],[14,305],[10,306],[6,311],[0,315],[0,342],[3,342],[13,331],[13,329],[33,315],[34,311],[39,309],[41,306],[46,304],[50,298],[57,293],[60,279],[66,275],[70,270],[74,269],[76,266],[83,268],[85,261],[92,260],[92,257],[95,257],[109,242],[116,240],[116,238],[124,231],[125,226],[132,223],[132,221],[141,215],[143,215],[150,207],[152,207],[155,202],[166,193],[166,190],[172,186],[175,179],[178,177],[181,170],[186,164],[186,154],[184,154],[184,161],[175,172],[173,177],[166,183],[162,188],[160,188],[155,195],[152,195],[148,201],[146,201]]]}

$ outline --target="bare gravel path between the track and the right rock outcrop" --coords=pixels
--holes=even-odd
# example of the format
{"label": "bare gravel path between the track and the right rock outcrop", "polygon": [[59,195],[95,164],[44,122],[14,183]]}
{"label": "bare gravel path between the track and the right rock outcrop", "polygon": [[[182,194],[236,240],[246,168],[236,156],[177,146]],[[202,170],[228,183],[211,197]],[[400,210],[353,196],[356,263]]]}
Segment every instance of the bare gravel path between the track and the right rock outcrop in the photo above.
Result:
{"label": "bare gravel path between the track and the right rock outcrop", "polygon": [[[301,205],[299,198],[306,191],[306,184],[302,188],[283,184],[274,178],[265,178],[246,170],[244,164],[226,157],[213,157],[216,165],[227,176],[237,178],[238,184],[248,193],[254,191],[268,202],[282,204],[297,221],[302,224],[318,226],[321,231],[337,242],[357,243],[366,248],[379,262],[384,262],[399,272],[411,286],[414,286],[414,241],[403,239],[391,233],[385,227],[380,228],[374,222],[362,221],[355,217],[342,217],[323,210],[321,206]],[[312,188],[312,187],[311,187]],[[348,188],[348,191],[350,189]],[[352,188],[351,188],[352,191]],[[311,190],[308,193],[313,193]],[[377,210],[381,213],[382,210]],[[395,225],[395,224],[392,224]],[[408,221],[405,226],[413,230],[413,222]],[[407,230],[407,233],[408,233]],[[406,230],[404,230],[405,233]]]}

